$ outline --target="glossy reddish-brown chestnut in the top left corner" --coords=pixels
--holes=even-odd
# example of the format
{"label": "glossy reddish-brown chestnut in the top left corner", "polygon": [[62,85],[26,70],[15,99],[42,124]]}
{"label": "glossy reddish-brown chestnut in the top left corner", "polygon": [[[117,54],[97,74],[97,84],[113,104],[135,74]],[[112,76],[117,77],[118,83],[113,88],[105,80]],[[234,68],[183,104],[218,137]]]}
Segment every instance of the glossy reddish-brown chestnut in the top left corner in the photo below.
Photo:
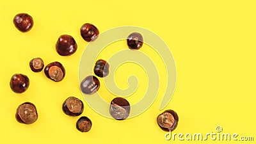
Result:
{"label": "glossy reddish-brown chestnut in the top left corner", "polygon": [[27,32],[33,27],[33,18],[28,13],[19,13],[15,15],[13,24],[19,31]]}

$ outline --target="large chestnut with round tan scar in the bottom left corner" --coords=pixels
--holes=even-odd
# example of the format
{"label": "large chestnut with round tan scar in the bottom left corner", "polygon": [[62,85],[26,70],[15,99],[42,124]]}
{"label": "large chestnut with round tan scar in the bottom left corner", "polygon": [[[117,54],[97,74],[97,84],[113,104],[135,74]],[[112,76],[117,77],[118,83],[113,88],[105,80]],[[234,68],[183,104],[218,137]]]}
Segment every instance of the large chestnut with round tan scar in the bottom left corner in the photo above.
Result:
{"label": "large chestnut with round tan scar in the bottom left corner", "polygon": [[38,118],[36,106],[31,102],[20,104],[16,111],[16,120],[22,124],[33,124]]}

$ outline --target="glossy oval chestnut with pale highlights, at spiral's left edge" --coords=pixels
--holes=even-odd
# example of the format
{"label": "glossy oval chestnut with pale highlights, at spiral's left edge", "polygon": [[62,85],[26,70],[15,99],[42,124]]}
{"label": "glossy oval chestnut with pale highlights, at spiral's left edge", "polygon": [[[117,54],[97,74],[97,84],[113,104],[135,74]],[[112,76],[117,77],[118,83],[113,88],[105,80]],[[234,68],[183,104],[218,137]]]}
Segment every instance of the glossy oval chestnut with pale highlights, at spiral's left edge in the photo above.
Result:
{"label": "glossy oval chestnut with pale highlights, at spiral's left edge", "polygon": [[100,81],[95,76],[87,76],[80,84],[80,89],[84,94],[92,95],[100,88]]}

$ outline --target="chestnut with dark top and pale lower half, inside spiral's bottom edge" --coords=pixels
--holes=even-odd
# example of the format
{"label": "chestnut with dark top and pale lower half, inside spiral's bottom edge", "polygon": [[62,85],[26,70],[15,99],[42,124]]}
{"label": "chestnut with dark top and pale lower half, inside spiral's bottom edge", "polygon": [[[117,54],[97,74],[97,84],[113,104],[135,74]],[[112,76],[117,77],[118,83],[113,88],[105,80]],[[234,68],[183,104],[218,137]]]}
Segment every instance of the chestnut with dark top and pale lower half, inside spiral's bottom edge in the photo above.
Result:
{"label": "chestnut with dark top and pale lower half, inside spiral's bottom edge", "polygon": [[124,120],[130,115],[130,110],[130,104],[126,99],[116,97],[111,101],[109,113],[116,120]]}

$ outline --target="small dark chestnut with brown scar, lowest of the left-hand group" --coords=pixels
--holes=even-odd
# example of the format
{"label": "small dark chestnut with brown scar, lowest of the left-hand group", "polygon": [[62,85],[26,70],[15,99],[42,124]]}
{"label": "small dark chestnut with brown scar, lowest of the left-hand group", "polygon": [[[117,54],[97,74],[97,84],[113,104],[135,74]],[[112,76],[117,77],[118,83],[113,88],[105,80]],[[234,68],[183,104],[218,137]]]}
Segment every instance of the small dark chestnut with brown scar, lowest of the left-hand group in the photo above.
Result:
{"label": "small dark chestnut with brown scar, lowest of the left-hand group", "polygon": [[86,117],[82,116],[76,122],[76,129],[81,132],[88,132],[92,128],[92,121]]}

